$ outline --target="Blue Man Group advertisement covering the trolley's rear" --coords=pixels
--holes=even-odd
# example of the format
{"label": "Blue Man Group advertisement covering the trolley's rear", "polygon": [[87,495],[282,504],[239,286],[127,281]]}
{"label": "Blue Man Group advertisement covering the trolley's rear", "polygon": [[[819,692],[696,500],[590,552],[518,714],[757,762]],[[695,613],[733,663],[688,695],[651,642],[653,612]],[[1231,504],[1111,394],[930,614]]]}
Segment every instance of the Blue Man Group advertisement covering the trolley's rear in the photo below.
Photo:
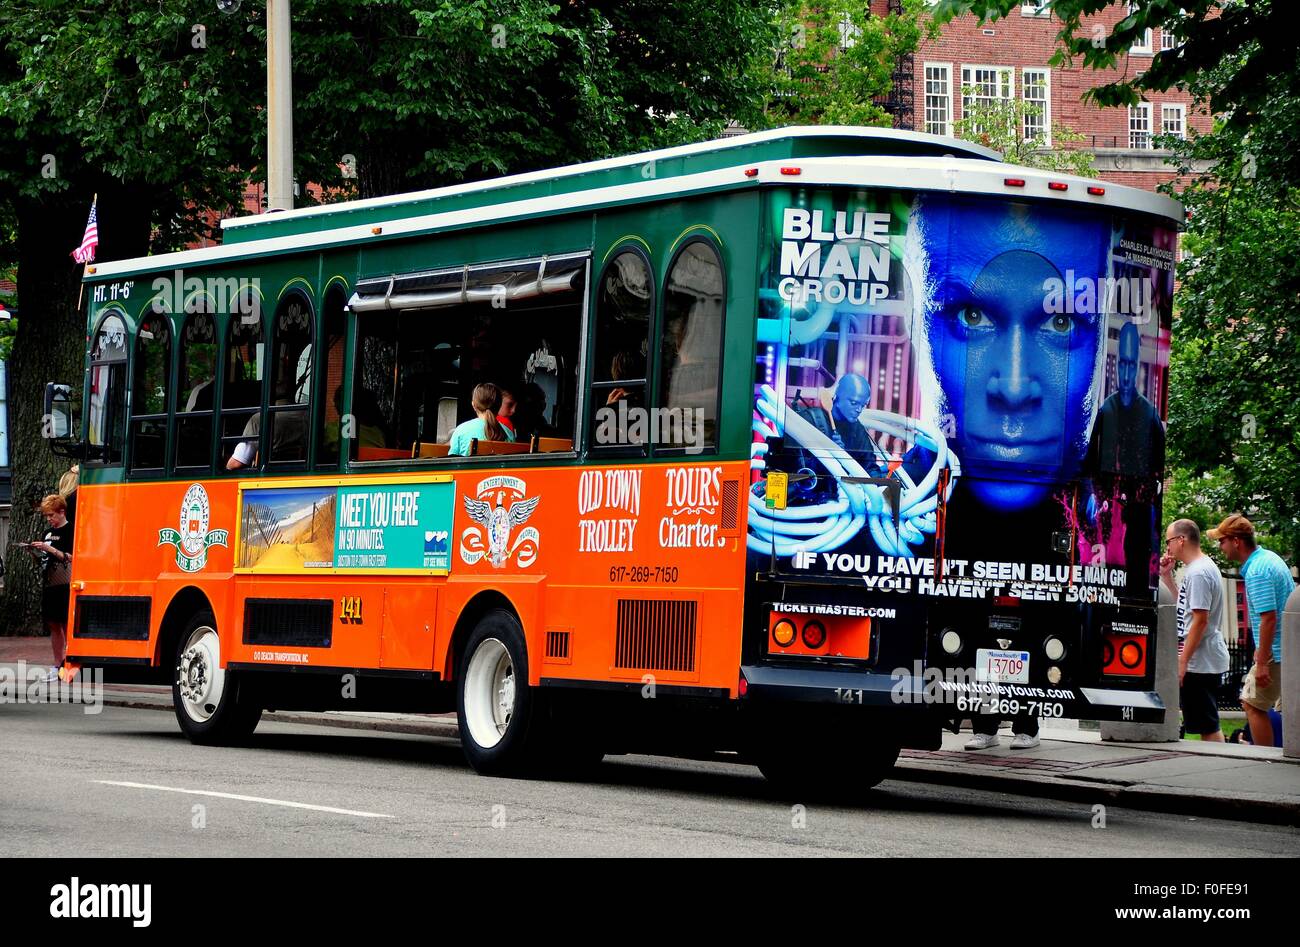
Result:
{"label": "Blue Man Group advertisement covering the trolley's rear", "polygon": [[[753,565],[1150,602],[1175,232],[849,189],[777,193],[768,217]],[[788,475],[775,502],[768,471]]]}

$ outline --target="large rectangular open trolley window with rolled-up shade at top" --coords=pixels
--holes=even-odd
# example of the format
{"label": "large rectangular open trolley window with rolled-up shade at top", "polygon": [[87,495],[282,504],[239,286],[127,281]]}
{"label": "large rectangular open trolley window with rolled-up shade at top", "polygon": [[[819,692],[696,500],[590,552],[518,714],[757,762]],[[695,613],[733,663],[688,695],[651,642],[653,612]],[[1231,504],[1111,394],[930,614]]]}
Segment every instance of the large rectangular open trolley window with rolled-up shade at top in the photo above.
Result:
{"label": "large rectangular open trolley window with rolled-up shade at top", "polygon": [[582,254],[363,280],[350,303],[351,457],[445,457],[419,445],[446,444],[474,420],[472,395],[484,382],[512,394],[516,444],[572,447],[585,277]]}

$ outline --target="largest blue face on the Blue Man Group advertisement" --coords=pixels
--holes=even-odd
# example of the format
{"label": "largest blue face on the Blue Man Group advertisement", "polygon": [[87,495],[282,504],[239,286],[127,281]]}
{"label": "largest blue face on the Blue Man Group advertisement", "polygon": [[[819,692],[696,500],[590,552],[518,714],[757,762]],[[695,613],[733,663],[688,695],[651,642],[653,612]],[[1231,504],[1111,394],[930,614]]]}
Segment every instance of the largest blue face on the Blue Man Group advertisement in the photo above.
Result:
{"label": "largest blue face on the Blue Man Group advertisement", "polygon": [[1002,510],[1048,492],[1002,476],[1050,477],[1076,453],[1088,423],[1100,337],[1091,315],[1045,311],[1044,284],[1060,278],[1039,252],[1000,254],[968,287],[949,293],[931,323],[957,454],[975,476],[974,493]]}

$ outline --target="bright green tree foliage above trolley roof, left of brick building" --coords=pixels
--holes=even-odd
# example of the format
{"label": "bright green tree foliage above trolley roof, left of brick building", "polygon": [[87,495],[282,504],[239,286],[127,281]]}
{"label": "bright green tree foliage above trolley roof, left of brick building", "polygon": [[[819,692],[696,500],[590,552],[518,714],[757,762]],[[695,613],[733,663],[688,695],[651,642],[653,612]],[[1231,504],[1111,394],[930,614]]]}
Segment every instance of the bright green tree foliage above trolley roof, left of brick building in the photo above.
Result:
{"label": "bright green tree foliage above trolley roof, left of brick building", "polygon": [[764,107],[770,125],[879,125],[879,103],[893,87],[902,56],[915,52],[923,0],[875,16],[866,0],[789,3],[779,17],[781,44]]}

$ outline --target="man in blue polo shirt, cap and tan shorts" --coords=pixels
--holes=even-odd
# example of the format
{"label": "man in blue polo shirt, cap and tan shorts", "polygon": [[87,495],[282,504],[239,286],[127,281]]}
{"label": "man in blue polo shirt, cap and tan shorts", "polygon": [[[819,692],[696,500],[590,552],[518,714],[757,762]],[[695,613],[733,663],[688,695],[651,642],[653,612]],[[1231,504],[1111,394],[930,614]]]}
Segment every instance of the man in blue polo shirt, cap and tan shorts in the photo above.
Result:
{"label": "man in blue polo shirt, cap and tan shorts", "polygon": [[1291,570],[1282,557],[1257,545],[1254,526],[1239,513],[1209,531],[1219,552],[1242,563],[1245,607],[1254,630],[1254,663],[1242,688],[1242,709],[1251,735],[1261,747],[1277,745],[1269,710],[1282,696],[1282,610],[1295,591]]}

